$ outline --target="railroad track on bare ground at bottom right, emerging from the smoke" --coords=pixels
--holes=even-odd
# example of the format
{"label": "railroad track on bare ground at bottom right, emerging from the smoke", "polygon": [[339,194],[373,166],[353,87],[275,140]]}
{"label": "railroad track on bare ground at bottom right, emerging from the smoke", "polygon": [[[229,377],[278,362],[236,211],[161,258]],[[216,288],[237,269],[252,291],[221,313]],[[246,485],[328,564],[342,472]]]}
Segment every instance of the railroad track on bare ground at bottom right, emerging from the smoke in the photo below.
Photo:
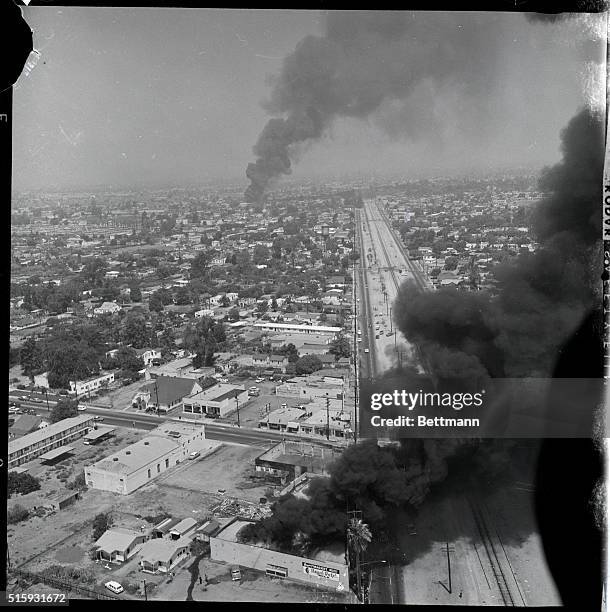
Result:
{"label": "railroad track on bare ground at bottom right, emerging from the smoke", "polygon": [[[480,503],[473,498],[468,498],[468,503],[485,550],[485,555],[489,561],[493,581],[498,587],[503,604],[511,607],[527,605],[506,554],[500,534],[497,530],[492,530],[490,527],[486,518],[487,512]],[[517,592],[515,593],[515,591]]]}

